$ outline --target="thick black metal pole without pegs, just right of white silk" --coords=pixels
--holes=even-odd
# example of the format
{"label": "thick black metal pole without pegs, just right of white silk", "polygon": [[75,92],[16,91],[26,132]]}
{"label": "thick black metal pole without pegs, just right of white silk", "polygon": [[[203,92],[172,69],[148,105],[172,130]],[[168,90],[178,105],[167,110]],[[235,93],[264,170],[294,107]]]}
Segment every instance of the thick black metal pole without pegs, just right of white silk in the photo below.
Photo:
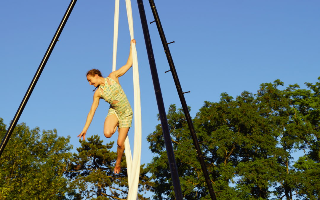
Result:
{"label": "thick black metal pole without pegs, just right of white silk", "polygon": [[160,115],[160,121],[161,121],[163,137],[164,137],[165,148],[167,150],[167,156],[168,156],[168,161],[169,161],[169,167],[170,167],[170,172],[171,172],[171,179],[172,179],[174,194],[175,194],[175,197],[177,200],[180,200],[180,199],[182,200],[182,191],[181,191],[181,186],[180,186],[178,169],[177,169],[177,164],[176,164],[176,160],[175,160],[174,153],[173,153],[172,141],[171,141],[171,136],[170,136],[170,132],[169,132],[167,116],[165,113],[158,72],[156,69],[156,62],[155,62],[154,55],[153,55],[146,13],[144,12],[144,6],[143,6],[142,0],[137,0],[137,3],[138,3],[138,7],[139,7],[141,25],[142,25],[144,40],[146,43],[148,58],[149,58],[149,65],[150,65],[151,76],[152,76],[152,80],[153,80],[153,86],[154,86],[155,93],[156,93],[156,100],[157,100],[157,104],[158,104],[158,110],[159,110],[159,115]]}

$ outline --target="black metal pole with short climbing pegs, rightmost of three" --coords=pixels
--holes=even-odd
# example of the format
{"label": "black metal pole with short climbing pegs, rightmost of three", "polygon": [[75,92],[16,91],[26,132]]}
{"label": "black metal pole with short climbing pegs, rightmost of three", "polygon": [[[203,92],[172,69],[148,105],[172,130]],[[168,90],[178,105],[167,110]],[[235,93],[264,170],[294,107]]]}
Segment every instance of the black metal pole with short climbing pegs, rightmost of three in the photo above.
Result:
{"label": "black metal pole with short climbing pegs, rightmost of three", "polygon": [[211,199],[216,200],[216,196],[214,194],[214,190],[213,190],[213,187],[212,187],[212,184],[211,184],[211,179],[210,179],[207,167],[205,165],[204,157],[202,155],[202,151],[201,151],[201,148],[200,148],[197,136],[196,136],[196,132],[195,132],[195,129],[194,129],[191,117],[190,117],[188,106],[187,106],[186,100],[184,98],[182,89],[181,89],[181,85],[180,85],[180,82],[179,82],[179,78],[178,78],[176,69],[175,69],[174,64],[173,64],[173,60],[172,60],[172,56],[171,56],[171,53],[170,53],[170,50],[169,50],[169,47],[168,47],[167,40],[166,40],[166,38],[164,36],[164,31],[163,31],[163,28],[162,28],[162,25],[161,25],[161,22],[160,22],[160,19],[159,19],[158,12],[156,10],[156,5],[155,5],[153,0],[149,0],[149,3],[150,3],[150,6],[151,6],[151,10],[152,10],[153,16],[154,16],[155,21],[156,21],[156,25],[157,25],[160,37],[161,37],[161,41],[162,41],[162,44],[163,44],[163,47],[164,47],[164,52],[165,52],[165,54],[167,56],[167,59],[168,59],[168,62],[169,62],[169,66],[170,66],[170,70],[172,72],[174,83],[176,84],[176,88],[177,88],[177,91],[178,91],[178,94],[179,94],[179,98],[180,98],[180,101],[181,101],[181,104],[182,104],[182,108],[183,108],[184,114],[185,114],[186,119],[187,119],[187,123],[188,123],[188,126],[189,126],[190,134],[191,134],[193,143],[194,143],[196,151],[197,151],[197,156],[199,158],[202,171],[204,173],[204,178],[205,178],[205,181],[207,183]]}

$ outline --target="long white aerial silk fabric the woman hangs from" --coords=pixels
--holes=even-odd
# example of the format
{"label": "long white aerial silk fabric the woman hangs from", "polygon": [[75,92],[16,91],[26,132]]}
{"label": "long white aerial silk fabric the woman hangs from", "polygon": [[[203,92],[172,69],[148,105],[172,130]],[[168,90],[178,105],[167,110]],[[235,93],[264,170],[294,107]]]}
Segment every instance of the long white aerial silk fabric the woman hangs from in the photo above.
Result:
{"label": "long white aerial silk fabric the woman hangs from", "polygon": [[[116,70],[116,51],[118,38],[118,23],[119,23],[119,0],[115,0],[115,25],[113,36],[113,62],[112,71]],[[133,39],[133,20],[131,1],[125,0],[127,8],[127,16],[131,39]],[[140,102],[140,83],[139,69],[136,45],[132,44],[132,71],[133,71],[133,91],[134,91],[134,148],[133,158],[128,137],[124,142],[125,156],[127,161],[129,193],[128,200],[138,199],[138,185],[140,175],[140,160],[141,160],[141,102]]]}

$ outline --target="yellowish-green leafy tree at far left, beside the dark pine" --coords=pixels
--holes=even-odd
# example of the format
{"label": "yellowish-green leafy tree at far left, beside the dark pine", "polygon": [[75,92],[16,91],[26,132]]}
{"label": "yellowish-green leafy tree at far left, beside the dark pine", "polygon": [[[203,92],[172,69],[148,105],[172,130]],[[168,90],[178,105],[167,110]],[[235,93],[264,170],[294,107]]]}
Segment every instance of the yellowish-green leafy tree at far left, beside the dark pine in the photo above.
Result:
{"label": "yellowish-green leafy tree at far left, beside the dark pine", "polygon": [[[0,136],[6,133],[0,118]],[[0,199],[66,199],[63,176],[72,146],[57,131],[18,124],[0,159]]]}

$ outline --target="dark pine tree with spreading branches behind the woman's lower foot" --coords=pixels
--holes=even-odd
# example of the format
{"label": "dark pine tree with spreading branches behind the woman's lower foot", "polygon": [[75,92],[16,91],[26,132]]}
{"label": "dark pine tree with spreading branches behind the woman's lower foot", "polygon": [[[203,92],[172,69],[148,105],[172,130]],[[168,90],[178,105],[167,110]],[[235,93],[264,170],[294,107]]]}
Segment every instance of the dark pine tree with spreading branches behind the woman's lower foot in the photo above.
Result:
{"label": "dark pine tree with spreading branches behind the woman's lower foot", "polygon": [[[116,152],[110,150],[114,142],[103,145],[98,135],[81,141],[81,147],[74,153],[66,175],[72,180],[70,189],[78,191],[77,199],[126,199],[128,178],[125,155],[121,161],[121,172],[114,174]],[[147,170],[140,167],[139,199],[149,199],[141,195],[149,190],[152,183]]]}

